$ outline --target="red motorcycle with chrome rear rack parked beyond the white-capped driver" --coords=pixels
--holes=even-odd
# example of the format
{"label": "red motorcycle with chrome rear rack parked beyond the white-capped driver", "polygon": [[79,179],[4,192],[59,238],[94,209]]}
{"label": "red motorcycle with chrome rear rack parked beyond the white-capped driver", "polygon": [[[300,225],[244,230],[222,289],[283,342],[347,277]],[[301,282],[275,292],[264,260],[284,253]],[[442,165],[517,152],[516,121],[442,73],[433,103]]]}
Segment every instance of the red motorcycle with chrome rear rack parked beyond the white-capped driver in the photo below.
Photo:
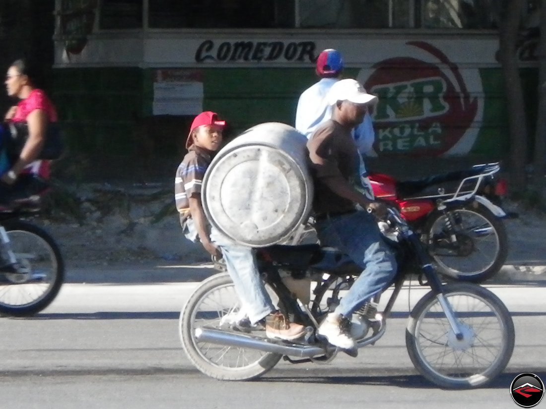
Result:
{"label": "red motorcycle with chrome rear rack parked beyond the white-capped driver", "polygon": [[508,239],[502,219],[506,183],[498,163],[473,166],[418,181],[370,174],[377,199],[395,204],[444,275],[482,282],[502,267]]}

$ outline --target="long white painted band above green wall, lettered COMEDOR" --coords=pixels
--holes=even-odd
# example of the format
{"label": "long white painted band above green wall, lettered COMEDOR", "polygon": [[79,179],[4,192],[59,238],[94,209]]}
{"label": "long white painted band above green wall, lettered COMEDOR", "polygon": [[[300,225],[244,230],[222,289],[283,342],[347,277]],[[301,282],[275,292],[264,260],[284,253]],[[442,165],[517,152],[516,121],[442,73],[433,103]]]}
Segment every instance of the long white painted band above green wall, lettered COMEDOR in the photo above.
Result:
{"label": "long white painted band above green wall, lettered COMEDOR", "polygon": [[[92,36],[79,55],[66,57],[56,43],[57,65],[139,65],[140,67],[309,67],[323,49],[339,50],[347,67],[371,67],[392,55],[407,55],[409,41],[426,41],[450,61],[498,67],[496,35],[378,35],[367,33],[135,33]],[[63,55],[65,55],[63,57]]]}

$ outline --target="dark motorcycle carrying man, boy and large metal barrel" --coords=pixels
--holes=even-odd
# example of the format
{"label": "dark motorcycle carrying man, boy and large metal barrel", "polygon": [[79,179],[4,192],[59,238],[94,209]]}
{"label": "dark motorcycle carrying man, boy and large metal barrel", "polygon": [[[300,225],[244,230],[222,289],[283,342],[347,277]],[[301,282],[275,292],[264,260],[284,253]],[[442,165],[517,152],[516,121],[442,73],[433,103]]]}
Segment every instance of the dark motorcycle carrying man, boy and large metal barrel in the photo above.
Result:
{"label": "dark motorcycle carrying man, boy and large metal barrel", "polygon": [[[422,272],[419,283],[430,291],[413,307],[406,327],[406,347],[413,365],[442,388],[484,386],[506,368],[512,356],[514,324],[506,306],[477,284],[442,284],[428,252],[400,213],[389,209],[384,222],[388,236],[395,239],[391,245],[399,269],[382,312],[378,312],[378,294],[349,317],[357,347],[373,345],[383,336],[394,302],[417,263]],[[339,352],[316,330],[361,269],[341,252],[317,244],[261,248],[257,260],[271,299],[290,321],[306,326],[305,336],[283,341],[266,338],[259,327],[241,332],[234,323],[244,316],[244,309],[233,282],[227,273],[213,275],[193,292],[179,320],[182,346],[193,365],[207,376],[250,380],[265,374],[283,357],[293,364],[323,363]],[[316,282],[313,297],[301,291],[310,288],[311,281]],[[298,282],[304,285],[294,286]]]}

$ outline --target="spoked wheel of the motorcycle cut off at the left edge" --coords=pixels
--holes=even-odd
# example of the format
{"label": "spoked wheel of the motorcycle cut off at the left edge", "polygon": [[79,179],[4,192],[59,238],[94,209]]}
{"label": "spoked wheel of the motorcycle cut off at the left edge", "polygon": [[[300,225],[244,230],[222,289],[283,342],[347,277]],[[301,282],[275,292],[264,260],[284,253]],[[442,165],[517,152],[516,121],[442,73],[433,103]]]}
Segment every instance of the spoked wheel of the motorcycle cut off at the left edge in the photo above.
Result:
{"label": "spoked wheel of the motorcycle cut off at the left edge", "polygon": [[19,272],[0,272],[0,314],[36,314],[57,296],[64,280],[64,263],[55,240],[25,221],[4,224]]}

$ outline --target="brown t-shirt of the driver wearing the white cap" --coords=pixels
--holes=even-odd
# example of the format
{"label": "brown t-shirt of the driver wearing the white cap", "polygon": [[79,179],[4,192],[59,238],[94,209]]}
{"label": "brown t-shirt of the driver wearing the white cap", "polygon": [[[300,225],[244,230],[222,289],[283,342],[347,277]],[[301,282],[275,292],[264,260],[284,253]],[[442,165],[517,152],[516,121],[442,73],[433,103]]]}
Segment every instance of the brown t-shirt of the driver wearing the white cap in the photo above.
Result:
{"label": "brown t-shirt of the driver wearing the white cap", "polygon": [[324,122],[307,142],[310,168],[314,181],[313,210],[315,214],[343,213],[355,209],[355,203],[335,194],[324,183],[354,184],[360,161],[351,130],[333,119]]}

